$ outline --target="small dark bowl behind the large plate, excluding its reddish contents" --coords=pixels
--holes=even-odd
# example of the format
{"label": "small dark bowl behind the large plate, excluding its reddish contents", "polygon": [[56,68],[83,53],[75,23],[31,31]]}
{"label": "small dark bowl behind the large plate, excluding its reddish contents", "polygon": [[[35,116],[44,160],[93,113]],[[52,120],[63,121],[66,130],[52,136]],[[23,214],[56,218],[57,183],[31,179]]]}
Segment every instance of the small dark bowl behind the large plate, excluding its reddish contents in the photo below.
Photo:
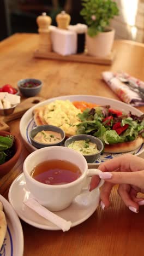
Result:
{"label": "small dark bowl behind the large plate, excluding its reddish contents", "polygon": [[[27,87],[22,87],[21,85],[27,82],[33,82],[33,83],[38,83],[38,86],[32,87],[32,88],[27,88]],[[34,79],[34,78],[28,78],[28,79],[22,79],[17,83],[17,86],[21,92],[21,94],[25,97],[34,97],[35,95],[39,94],[41,87],[43,86],[43,83],[39,79]]]}

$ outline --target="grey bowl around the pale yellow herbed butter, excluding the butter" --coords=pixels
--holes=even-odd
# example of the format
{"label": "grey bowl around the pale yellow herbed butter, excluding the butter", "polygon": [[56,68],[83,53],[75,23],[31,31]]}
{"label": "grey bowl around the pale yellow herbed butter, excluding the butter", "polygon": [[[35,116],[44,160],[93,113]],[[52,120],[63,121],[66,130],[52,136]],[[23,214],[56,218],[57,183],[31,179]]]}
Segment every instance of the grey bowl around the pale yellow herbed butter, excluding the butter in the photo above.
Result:
{"label": "grey bowl around the pale yellow herbed butter, excluding the butter", "polygon": [[98,139],[94,136],[91,136],[91,135],[84,135],[84,134],[83,135],[74,135],[74,136],[71,136],[68,139],[66,139],[66,141],[64,143],[64,146],[68,147],[74,141],[85,141],[86,139],[90,139],[90,141],[92,143],[95,143],[97,145],[98,150],[99,150],[98,153],[95,153],[95,154],[92,154],[92,155],[83,155],[88,163],[92,163],[92,162],[95,162],[99,158],[101,152],[104,149],[104,145],[100,141],[100,139]]}

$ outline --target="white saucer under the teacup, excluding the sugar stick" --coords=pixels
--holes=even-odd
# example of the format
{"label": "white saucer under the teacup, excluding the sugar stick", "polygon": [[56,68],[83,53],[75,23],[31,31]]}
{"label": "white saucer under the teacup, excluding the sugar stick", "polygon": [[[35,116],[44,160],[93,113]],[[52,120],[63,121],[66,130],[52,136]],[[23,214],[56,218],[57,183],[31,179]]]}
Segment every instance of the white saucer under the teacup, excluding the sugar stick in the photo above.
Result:
{"label": "white saucer under the teacup, excluding the sugar stick", "polygon": [[[58,226],[39,216],[39,214],[23,204],[23,200],[28,198],[29,195],[30,192],[26,187],[25,176],[22,173],[15,179],[9,189],[9,202],[14,207],[17,215],[26,223],[36,228],[60,230]],[[70,220],[73,227],[88,219],[97,209],[98,205],[99,189],[94,189],[91,192],[87,191],[77,196],[67,209],[55,213],[65,220]]]}

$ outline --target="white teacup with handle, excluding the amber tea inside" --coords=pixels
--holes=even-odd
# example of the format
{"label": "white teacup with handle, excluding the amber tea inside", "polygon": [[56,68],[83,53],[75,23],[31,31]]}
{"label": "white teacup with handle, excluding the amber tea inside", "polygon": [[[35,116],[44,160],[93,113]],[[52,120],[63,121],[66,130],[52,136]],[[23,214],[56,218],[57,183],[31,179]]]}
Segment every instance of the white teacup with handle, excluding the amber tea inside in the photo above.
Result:
{"label": "white teacup with handle, excluding the amber tea inside", "polygon": [[[31,172],[40,162],[47,160],[69,161],[79,166],[82,174],[74,182],[67,184],[49,185],[38,182],[32,178]],[[27,188],[34,199],[50,211],[61,211],[67,208],[74,198],[82,193],[87,177],[101,173],[97,169],[88,170],[87,161],[80,153],[70,148],[56,146],[41,148],[28,155],[23,164],[23,172]],[[103,184],[104,181],[101,179],[97,188],[100,188]]]}

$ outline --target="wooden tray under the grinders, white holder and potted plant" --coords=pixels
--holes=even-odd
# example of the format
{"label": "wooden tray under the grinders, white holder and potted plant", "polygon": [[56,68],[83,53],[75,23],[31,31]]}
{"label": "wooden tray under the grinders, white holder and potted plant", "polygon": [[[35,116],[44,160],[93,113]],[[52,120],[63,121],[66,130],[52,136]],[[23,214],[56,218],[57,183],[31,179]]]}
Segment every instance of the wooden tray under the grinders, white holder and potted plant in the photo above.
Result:
{"label": "wooden tray under the grinders, white holder and potted plant", "polygon": [[90,56],[87,53],[82,54],[71,54],[67,56],[62,56],[60,54],[51,52],[41,52],[39,50],[36,50],[34,52],[35,58],[41,58],[41,59],[51,59],[51,60],[61,60],[61,61],[75,61],[75,62],[86,62],[86,63],[94,63],[94,64],[101,64],[101,65],[111,65],[113,62],[113,59],[115,57],[114,51],[111,52],[109,56],[106,57],[94,57]]}

